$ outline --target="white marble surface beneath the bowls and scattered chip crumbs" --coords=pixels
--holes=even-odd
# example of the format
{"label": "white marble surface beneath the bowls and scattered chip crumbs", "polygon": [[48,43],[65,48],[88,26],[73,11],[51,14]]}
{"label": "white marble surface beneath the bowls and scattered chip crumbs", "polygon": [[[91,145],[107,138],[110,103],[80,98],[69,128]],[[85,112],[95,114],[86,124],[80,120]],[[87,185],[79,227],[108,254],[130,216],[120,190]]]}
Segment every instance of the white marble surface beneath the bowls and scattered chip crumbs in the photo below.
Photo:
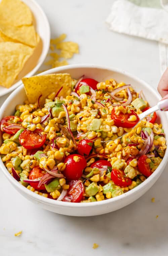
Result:
{"label": "white marble surface beneath the bowls and scattered chip crumbs", "polygon": [[[67,33],[68,40],[79,43],[80,54],[70,63],[121,68],[157,87],[157,43],[109,31],[104,20],[112,0],[37,2],[47,14],[52,37]],[[0,98],[1,104],[5,98]],[[136,202],[113,213],[85,218],[41,210],[15,191],[1,172],[0,181],[1,256],[168,255],[168,168]],[[20,230],[23,234],[15,237]],[[99,244],[95,250],[93,243]]]}

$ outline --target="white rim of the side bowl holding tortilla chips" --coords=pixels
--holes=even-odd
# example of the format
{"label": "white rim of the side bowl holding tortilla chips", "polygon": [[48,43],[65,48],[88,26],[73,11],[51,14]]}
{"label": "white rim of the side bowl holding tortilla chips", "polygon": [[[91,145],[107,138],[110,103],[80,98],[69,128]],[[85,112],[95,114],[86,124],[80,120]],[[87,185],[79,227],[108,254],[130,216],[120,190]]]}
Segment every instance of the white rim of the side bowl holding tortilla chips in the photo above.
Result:
{"label": "white rim of the side bowl holding tortilla chips", "polygon": [[[43,64],[43,62],[44,62],[44,60],[45,60],[45,58],[47,56],[47,53],[48,53],[49,47],[50,47],[51,29],[50,29],[50,25],[49,25],[49,21],[47,19],[47,16],[46,16],[44,10],[42,9],[42,7],[35,0],[26,0],[26,2],[27,1],[32,2],[33,5],[35,5],[37,7],[37,9],[40,11],[40,15],[42,16],[42,18],[43,18],[43,20],[44,20],[44,22],[46,24],[46,28],[47,28],[46,29],[46,38],[48,38],[48,40],[47,40],[47,42],[45,44],[45,48],[44,48],[44,44],[43,44],[43,49],[42,49],[42,52],[41,52],[41,55],[40,55],[40,57],[43,55],[43,58],[40,60],[39,63],[37,63],[37,65],[29,73],[27,73],[25,75],[26,77],[30,77],[30,76],[34,75],[37,72],[37,70],[41,67],[41,65]],[[23,0],[23,2],[25,2],[25,1]],[[31,11],[33,12],[33,9],[31,9]],[[40,59],[40,57],[39,57],[39,59]],[[2,92],[2,93],[0,93],[0,96],[3,96],[5,94],[15,90],[20,85],[22,85],[22,78],[19,81],[17,81],[15,84],[13,84],[11,87],[9,87],[9,88],[3,87],[5,89],[7,89],[7,90]]]}

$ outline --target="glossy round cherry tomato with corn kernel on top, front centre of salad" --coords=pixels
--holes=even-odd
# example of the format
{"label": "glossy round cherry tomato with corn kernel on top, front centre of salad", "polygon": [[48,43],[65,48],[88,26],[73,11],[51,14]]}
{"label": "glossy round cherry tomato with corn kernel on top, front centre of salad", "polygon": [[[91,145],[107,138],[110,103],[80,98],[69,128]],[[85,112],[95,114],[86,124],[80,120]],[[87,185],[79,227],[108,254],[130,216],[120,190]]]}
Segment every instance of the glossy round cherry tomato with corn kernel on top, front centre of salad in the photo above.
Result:
{"label": "glossy round cherry tomato with corn kernel on top, front centre of salad", "polygon": [[82,171],[86,167],[86,160],[78,154],[69,155],[65,158],[64,163],[67,163],[64,170],[64,175],[67,180],[78,180],[82,176]]}

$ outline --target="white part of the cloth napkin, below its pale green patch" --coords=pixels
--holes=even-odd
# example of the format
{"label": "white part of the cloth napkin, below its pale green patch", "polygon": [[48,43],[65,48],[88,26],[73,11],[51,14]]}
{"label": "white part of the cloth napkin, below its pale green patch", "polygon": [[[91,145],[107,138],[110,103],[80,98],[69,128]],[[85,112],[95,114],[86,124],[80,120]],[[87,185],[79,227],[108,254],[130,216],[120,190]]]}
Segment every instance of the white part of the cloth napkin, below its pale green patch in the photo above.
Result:
{"label": "white part of the cloth napkin, below its pale green patch", "polygon": [[113,31],[158,41],[161,72],[165,71],[168,67],[168,13],[165,10],[117,0],[106,23]]}

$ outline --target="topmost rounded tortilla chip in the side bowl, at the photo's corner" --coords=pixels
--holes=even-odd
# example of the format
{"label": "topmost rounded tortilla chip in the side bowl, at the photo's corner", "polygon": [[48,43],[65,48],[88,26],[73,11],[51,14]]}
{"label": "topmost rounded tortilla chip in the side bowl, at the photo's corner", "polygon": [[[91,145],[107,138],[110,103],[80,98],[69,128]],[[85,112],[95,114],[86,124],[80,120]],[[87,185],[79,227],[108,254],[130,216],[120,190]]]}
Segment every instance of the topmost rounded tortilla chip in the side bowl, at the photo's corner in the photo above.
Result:
{"label": "topmost rounded tortilla chip in the side bowl, at the photo's corner", "polygon": [[12,26],[32,25],[33,18],[29,7],[20,0],[2,0],[0,17]]}

